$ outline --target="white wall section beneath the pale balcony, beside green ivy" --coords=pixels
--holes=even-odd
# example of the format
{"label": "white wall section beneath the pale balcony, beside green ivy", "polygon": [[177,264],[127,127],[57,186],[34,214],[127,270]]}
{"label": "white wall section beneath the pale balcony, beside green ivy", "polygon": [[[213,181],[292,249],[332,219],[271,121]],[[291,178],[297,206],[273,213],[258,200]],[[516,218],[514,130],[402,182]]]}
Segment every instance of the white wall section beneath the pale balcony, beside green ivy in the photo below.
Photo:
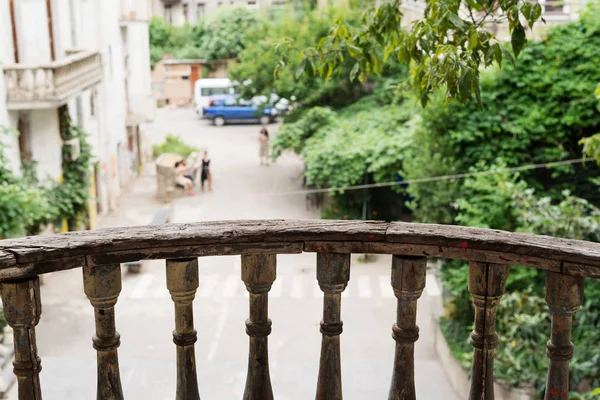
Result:
{"label": "white wall section beneath the pale balcony, beside green ivy", "polygon": [[32,110],[31,126],[32,156],[37,161],[40,180],[48,177],[56,180],[62,175],[62,140],[59,134],[56,109]]}

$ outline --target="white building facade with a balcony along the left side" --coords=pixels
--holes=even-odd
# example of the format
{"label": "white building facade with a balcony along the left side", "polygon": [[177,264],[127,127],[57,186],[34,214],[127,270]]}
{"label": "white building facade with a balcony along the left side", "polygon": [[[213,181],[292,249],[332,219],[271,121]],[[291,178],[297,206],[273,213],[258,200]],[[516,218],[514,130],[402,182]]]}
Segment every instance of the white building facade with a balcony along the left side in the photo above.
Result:
{"label": "white building facade with a balcony along the left side", "polygon": [[140,126],[153,117],[150,0],[0,1],[0,126],[19,173],[33,160],[40,179],[60,180],[58,108],[92,146],[95,208],[117,207],[135,177]]}

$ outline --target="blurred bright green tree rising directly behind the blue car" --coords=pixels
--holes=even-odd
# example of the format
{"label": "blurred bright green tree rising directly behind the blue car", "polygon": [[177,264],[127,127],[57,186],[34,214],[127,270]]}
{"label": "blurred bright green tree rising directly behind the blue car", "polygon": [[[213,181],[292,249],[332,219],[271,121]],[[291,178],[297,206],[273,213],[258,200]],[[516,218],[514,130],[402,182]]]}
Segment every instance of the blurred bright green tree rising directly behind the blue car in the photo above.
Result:
{"label": "blurred bright green tree rising directly behind the blue car", "polygon": [[346,71],[345,77],[329,80],[304,75],[296,77],[295,71],[301,61],[297,57],[282,61],[274,48],[283,37],[294,38],[298,46],[310,46],[327,35],[330,24],[336,18],[345,15],[357,20],[359,13],[360,9],[343,5],[319,9],[290,6],[276,17],[263,17],[256,29],[247,32],[245,49],[238,55],[238,64],[230,68],[230,77],[237,82],[245,82],[239,87],[245,98],[276,93],[287,99],[295,98],[303,108],[348,105],[367,90],[362,85],[349,82],[347,74],[352,63],[341,67]]}

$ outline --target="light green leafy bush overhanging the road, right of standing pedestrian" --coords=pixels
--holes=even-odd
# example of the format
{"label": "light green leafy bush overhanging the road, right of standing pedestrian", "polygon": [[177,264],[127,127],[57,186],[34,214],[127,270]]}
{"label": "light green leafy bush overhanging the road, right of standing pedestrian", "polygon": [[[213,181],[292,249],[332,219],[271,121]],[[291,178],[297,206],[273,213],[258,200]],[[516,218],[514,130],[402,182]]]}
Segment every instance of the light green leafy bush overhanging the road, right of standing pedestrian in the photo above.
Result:
{"label": "light green leafy bush overhanging the road, right of standing pedestrian", "polygon": [[317,187],[350,186],[366,175],[375,182],[393,180],[411,144],[415,106],[409,101],[377,106],[377,97],[367,96],[337,113],[310,109],[284,125],[274,140],[274,156],[284,149],[302,155],[307,181]]}

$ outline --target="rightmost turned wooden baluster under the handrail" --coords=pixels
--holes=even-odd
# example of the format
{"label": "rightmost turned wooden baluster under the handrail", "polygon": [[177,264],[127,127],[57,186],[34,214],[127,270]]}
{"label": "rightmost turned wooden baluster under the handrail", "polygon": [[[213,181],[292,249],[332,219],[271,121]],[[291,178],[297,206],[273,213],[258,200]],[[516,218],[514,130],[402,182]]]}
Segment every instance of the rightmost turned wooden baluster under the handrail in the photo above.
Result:
{"label": "rightmost turned wooden baluster under the handrail", "polygon": [[546,303],[552,312],[552,334],[546,354],[550,357],[545,400],[569,398],[569,360],[573,357],[573,315],[583,302],[583,278],[546,272]]}

